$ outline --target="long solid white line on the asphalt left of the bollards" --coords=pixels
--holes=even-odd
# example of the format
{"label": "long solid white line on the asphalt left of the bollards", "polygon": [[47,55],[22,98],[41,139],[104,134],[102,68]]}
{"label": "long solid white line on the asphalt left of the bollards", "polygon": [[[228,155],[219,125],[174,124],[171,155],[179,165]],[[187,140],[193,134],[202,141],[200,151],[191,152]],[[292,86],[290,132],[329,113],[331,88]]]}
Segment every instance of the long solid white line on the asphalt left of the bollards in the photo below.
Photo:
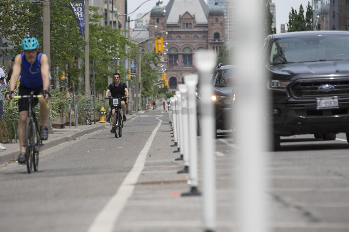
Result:
{"label": "long solid white line on the asphalt left of the bollards", "polygon": [[137,183],[138,177],[143,170],[144,163],[146,162],[151,143],[154,140],[157,130],[161,126],[162,120],[159,119],[160,117],[156,118],[159,120],[159,123],[153,130],[153,133],[151,133],[141,153],[139,153],[132,170],[127,174],[116,194],[109,200],[103,210],[99,212],[97,217],[94,219],[88,232],[114,231],[114,225],[116,224],[121,211],[124,209],[128,198],[131,197],[133,193],[134,186]]}

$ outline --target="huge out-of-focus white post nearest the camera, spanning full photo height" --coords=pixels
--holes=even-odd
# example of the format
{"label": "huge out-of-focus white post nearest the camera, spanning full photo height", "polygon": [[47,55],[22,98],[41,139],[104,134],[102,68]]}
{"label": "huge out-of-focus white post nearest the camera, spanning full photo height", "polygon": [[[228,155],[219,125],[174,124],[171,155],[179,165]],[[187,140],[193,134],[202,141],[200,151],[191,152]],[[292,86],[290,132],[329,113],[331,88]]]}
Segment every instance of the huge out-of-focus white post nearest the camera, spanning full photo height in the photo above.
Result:
{"label": "huge out-of-focus white post nearest the camera, spanning full photo height", "polygon": [[273,117],[267,116],[264,110],[273,109],[273,104],[267,104],[273,101],[268,99],[272,93],[265,88],[269,71],[265,66],[266,61],[262,58],[267,51],[262,50],[261,41],[267,34],[262,23],[256,23],[255,20],[265,18],[264,13],[267,11],[261,10],[265,7],[265,2],[259,0],[236,1],[235,6],[239,9],[236,12],[239,19],[236,24],[238,35],[236,42],[239,46],[234,50],[238,67],[236,79],[238,100],[234,103],[238,151],[233,170],[236,170],[234,175],[238,178],[234,196],[237,217],[234,220],[236,223],[233,230],[267,232],[273,231],[269,229],[271,224],[268,222],[268,215],[272,209],[268,208],[269,154],[266,152],[269,139],[273,141],[270,131],[273,124],[269,122],[273,121]]}

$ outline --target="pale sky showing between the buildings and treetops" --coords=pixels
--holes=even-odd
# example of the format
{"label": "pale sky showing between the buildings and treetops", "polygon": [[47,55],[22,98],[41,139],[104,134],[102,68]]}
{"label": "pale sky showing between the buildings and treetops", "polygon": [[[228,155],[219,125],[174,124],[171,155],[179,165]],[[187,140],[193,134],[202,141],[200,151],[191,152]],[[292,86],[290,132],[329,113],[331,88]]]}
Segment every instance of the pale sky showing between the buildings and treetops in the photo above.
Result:
{"label": "pale sky showing between the buildings and treetops", "polygon": [[[128,12],[134,11],[144,1],[145,0],[127,0]],[[131,15],[130,18],[135,19],[137,14],[148,12],[156,5],[157,1],[158,0],[149,0],[148,2],[144,3],[138,10],[136,10]],[[166,6],[169,1],[170,0],[163,0],[162,5],[160,6]],[[303,5],[303,8],[306,8],[308,1],[311,2],[311,0],[272,0],[272,2],[275,3],[275,7],[276,7],[276,32],[280,32],[281,24],[285,24],[285,28],[287,30],[286,23],[288,23],[288,15],[291,11],[291,7],[299,11],[300,4]],[[205,0],[205,2],[207,3],[207,0]],[[131,23],[131,28],[133,27],[134,27],[134,23],[133,24]]]}

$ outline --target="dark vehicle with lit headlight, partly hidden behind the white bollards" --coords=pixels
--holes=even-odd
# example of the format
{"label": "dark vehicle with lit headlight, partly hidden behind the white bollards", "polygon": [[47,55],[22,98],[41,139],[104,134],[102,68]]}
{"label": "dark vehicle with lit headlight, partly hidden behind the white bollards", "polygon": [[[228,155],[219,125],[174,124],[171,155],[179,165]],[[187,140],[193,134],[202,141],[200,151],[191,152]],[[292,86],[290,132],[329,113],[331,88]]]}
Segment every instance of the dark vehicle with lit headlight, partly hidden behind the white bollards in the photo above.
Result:
{"label": "dark vehicle with lit headlight, partly hidden behind the white bollards", "polygon": [[[211,100],[214,102],[215,107],[215,121],[216,130],[229,130],[232,129],[232,110],[234,98],[235,86],[235,65],[222,65],[219,64],[212,77],[211,83],[213,88],[213,95]],[[201,114],[205,113],[205,109],[200,107],[201,89],[200,85],[197,88],[198,91],[198,134],[200,134],[200,118]]]}

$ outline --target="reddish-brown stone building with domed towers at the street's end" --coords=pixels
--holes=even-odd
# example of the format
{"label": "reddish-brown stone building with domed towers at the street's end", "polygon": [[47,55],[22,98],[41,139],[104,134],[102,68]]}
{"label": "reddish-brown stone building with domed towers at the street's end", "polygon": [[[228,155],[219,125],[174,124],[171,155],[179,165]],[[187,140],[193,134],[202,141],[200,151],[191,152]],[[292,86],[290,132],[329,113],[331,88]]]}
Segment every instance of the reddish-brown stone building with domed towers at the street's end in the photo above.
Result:
{"label": "reddish-brown stone building with domed towers at the street's end", "polygon": [[164,38],[165,50],[159,65],[166,69],[169,89],[176,90],[186,74],[198,73],[194,66],[196,51],[211,49],[218,54],[225,45],[224,13],[217,3],[209,8],[204,0],[170,0],[165,10],[164,14],[159,5],[152,9],[149,37]]}

